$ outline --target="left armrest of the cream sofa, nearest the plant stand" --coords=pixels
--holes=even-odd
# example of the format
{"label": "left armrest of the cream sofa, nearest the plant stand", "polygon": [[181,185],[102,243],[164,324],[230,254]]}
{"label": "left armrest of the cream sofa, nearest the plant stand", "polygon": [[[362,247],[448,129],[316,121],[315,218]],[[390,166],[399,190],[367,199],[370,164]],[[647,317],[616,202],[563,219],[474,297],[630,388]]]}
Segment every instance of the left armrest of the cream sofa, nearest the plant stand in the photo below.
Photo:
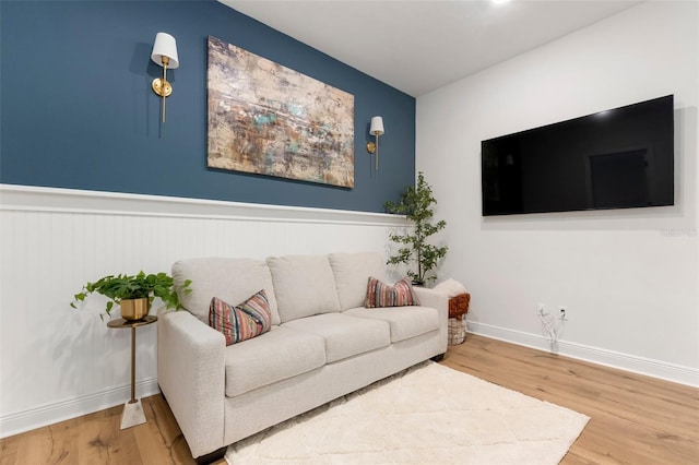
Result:
{"label": "left armrest of the cream sofa, nearest the plant stand", "polygon": [[198,457],[224,445],[226,341],[186,310],[157,315],[157,381]]}

